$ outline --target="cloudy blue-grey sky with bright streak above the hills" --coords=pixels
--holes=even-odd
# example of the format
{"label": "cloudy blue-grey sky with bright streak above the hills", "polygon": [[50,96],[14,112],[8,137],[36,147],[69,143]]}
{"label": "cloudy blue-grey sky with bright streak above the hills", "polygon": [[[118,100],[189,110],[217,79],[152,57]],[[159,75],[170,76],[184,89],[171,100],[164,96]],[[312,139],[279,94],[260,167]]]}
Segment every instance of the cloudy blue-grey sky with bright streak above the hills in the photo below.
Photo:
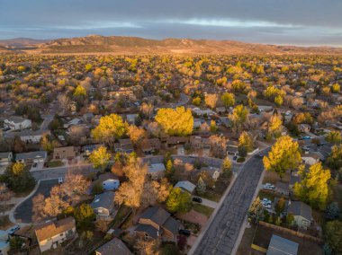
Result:
{"label": "cloudy blue-grey sky with bright streak above the hills", "polygon": [[342,0],[0,0],[0,40],[89,34],[342,47]]}

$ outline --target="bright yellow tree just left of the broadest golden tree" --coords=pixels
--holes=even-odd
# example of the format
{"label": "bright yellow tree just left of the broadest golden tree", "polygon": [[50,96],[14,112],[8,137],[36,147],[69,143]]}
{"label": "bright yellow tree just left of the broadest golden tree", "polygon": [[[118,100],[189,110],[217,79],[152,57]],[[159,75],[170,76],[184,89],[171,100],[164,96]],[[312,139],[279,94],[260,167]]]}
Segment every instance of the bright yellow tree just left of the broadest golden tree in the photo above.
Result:
{"label": "bright yellow tree just left of the broadest golden tree", "polygon": [[92,135],[98,141],[113,145],[115,139],[121,138],[126,132],[126,123],[119,115],[112,113],[100,119],[99,125],[92,130]]}

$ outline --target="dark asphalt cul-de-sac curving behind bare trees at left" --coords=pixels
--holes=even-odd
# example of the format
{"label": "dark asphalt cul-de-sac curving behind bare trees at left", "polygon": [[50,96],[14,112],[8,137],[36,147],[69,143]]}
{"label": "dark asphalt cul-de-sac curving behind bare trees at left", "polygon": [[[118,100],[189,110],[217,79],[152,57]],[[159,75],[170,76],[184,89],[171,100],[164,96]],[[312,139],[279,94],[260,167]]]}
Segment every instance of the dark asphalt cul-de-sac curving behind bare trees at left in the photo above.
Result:
{"label": "dark asphalt cul-de-sac curving behind bare trees at left", "polygon": [[45,198],[49,197],[49,191],[52,189],[53,186],[58,185],[58,179],[55,180],[41,180],[40,186],[34,192],[33,196],[30,198],[27,198],[25,201],[23,201],[22,204],[20,204],[18,207],[16,207],[14,211],[14,218],[19,222],[29,224],[33,221],[32,219],[32,199],[37,196],[38,194],[44,195]]}

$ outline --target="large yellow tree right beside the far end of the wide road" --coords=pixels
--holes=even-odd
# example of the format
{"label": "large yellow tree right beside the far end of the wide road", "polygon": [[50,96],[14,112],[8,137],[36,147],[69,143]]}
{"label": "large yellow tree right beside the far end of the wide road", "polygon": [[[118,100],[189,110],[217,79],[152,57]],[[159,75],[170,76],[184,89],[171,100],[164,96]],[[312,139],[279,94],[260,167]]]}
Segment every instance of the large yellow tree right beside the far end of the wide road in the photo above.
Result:
{"label": "large yellow tree right beside the far end of the wide road", "polygon": [[266,171],[275,171],[282,179],[285,171],[296,168],[302,162],[299,145],[290,136],[281,136],[272,146],[263,163]]}

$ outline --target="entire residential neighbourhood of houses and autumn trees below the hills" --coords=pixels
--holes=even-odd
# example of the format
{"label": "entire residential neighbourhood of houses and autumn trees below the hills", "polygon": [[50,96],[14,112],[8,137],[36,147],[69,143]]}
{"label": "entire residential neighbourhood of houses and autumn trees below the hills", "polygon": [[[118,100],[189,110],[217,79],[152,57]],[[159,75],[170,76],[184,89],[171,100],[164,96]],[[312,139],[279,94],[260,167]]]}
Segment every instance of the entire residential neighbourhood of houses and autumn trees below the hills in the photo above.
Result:
{"label": "entire residential neighbourhood of houses and autumn trees below the hills", "polygon": [[341,66],[0,55],[1,254],[339,254]]}

